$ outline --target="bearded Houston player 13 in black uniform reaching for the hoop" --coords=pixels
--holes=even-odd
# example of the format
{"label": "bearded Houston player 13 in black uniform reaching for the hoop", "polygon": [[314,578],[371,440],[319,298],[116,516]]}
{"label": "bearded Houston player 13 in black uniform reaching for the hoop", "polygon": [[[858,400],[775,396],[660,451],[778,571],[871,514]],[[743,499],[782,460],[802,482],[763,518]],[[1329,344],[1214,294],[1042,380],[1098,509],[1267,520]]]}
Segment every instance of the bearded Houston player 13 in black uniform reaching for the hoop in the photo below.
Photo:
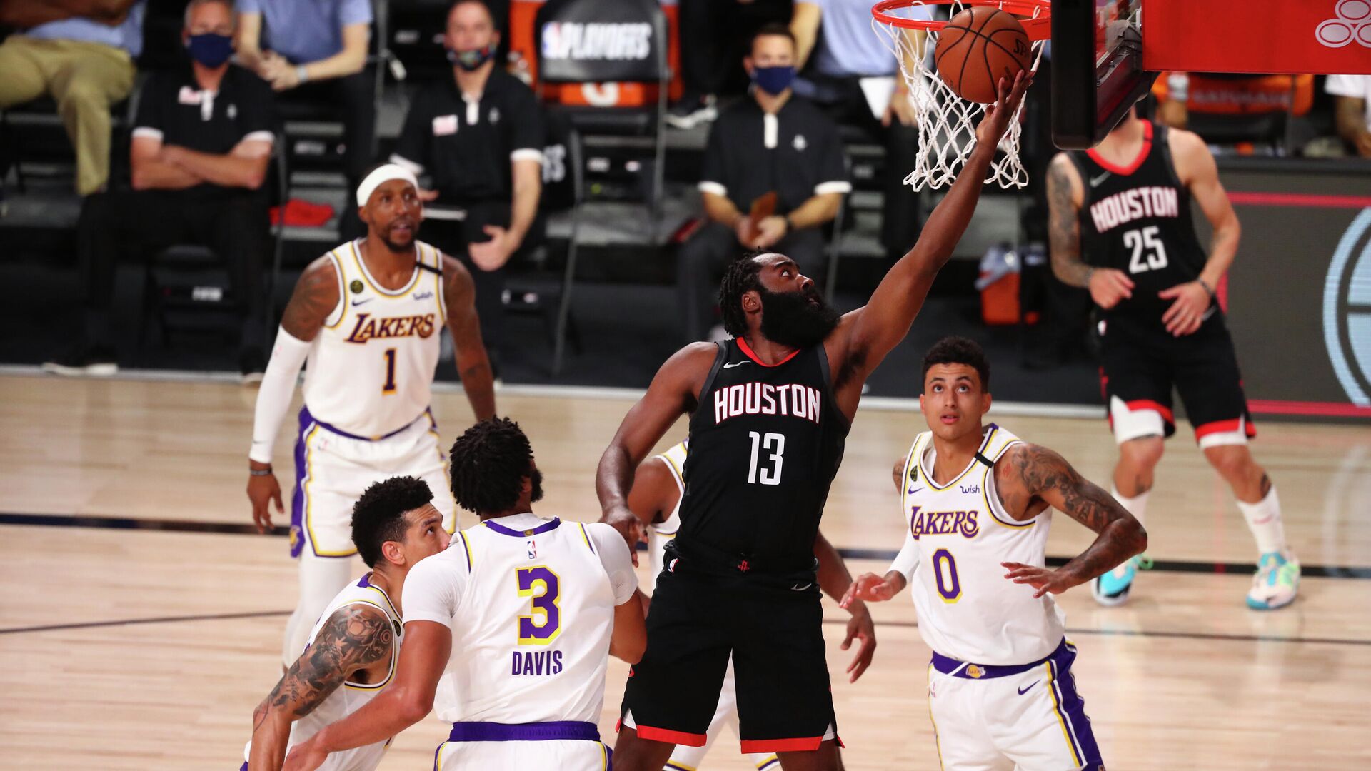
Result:
{"label": "bearded Houston player 13 in black uniform reaching for the hoop", "polygon": [[616,768],[655,771],[676,744],[703,745],[729,656],[743,752],[776,752],[791,771],[838,768],[814,586],[818,520],[862,383],[909,332],[971,222],[1030,80],[1020,74],[1012,89],[1001,80],[965,169],[868,305],[839,316],[794,259],[744,255],[720,288],[733,339],[677,351],[624,417],[595,486],[603,521],[638,543],[633,471],[691,416],[681,527],[624,691]]}

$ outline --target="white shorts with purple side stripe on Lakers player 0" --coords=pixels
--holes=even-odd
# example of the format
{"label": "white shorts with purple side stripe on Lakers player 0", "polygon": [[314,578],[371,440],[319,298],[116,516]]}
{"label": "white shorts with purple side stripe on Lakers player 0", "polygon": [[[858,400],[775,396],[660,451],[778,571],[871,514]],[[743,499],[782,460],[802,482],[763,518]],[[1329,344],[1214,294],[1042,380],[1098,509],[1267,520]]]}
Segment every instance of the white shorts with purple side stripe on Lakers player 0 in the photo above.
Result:
{"label": "white shorts with purple side stripe on Lakers player 0", "polygon": [[[928,713],[945,771],[1101,771],[1104,761],[1063,643],[1028,667],[962,667],[935,656]],[[995,669],[1010,669],[998,675]],[[1017,669],[1017,671],[1016,671]]]}

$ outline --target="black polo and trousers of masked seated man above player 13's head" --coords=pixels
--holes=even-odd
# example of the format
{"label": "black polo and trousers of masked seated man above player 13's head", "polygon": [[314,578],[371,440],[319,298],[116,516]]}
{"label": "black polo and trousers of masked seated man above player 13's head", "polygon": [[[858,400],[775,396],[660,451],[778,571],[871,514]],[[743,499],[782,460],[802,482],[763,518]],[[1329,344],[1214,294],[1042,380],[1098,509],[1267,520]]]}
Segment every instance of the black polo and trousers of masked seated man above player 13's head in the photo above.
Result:
{"label": "black polo and trousers of masked seated man above player 13's head", "polygon": [[[699,191],[728,198],[744,215],[753,200],[773,191],[777,215],[790,214],[816,195],[847,193],[851,182],[838,126],[803,97],[791,96],[775,115],[765,112],[755,99],[743,99],[710,129]],[[676,288],[691,340],[709,333],[718,276],[743,251],[733,229],[713,221],[681,247]],[[772,251],[794,259],[805,274],[818,276],[823,230],[787,230]]]}

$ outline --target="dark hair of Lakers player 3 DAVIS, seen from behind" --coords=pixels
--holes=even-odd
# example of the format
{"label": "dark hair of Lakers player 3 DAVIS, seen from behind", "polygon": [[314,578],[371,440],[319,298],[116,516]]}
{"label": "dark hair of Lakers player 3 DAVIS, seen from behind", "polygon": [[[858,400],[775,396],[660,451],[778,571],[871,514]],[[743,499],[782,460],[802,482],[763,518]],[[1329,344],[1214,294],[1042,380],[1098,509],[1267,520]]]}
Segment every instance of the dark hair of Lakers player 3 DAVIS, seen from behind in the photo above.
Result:
{"label": "dark hair of Lakers player 3 DAVIS, seen from behind", "polygon": [[532,460],[533,446],[517,423],[507,417],[483,420],[452,442],[452,498],[469,512],[509,510],[518,502]]}

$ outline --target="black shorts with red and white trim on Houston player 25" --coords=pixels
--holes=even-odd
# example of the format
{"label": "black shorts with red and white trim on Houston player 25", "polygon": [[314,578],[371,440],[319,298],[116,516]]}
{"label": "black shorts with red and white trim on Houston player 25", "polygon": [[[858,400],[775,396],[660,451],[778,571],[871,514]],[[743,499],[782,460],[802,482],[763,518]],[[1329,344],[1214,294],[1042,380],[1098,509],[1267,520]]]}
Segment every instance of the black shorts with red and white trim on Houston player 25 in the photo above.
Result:
{"label": "black shorts with red and white trim on Houston player 25", "polygon": [[1119,442],[1154,435],[1150,414],[1165,436],[1176,431],[1172,388],[1201,446],[1234,444],[1257,435],[1242,392],[1242,373],[1222,313],[1193,335],[1171,336],[1156,321],[1111,316],[1101,322],[1100,380],[1109,423]]}

